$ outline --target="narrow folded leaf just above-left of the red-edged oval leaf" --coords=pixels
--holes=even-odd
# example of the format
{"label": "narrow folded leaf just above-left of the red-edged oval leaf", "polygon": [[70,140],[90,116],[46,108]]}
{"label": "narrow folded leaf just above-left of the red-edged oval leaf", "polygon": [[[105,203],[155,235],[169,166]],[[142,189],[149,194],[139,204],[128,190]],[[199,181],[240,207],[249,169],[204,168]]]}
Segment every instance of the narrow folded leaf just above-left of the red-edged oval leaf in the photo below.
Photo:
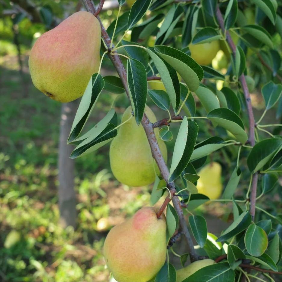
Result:
{"label": "narrow folded leaf just above-left of the red-edged oval leaf", "polygon": [[218,242],[225,241],[240,232],[244,231],[251,223],[252,218],[248,211],[243,212],[234,222],[221,234],[216,240]]}

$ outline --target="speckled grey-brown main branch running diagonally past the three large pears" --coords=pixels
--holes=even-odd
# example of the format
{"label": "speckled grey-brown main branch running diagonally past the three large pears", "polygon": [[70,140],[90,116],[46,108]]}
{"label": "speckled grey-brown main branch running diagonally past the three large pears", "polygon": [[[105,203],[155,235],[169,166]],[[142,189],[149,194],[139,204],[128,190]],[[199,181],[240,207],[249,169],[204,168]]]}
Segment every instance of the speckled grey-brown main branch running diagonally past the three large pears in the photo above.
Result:
{"label": "speckled grey-brown main branch running diagonally past the three large pears", "polygon": [[[84,0],[83,2],[85,4],[86,9],[89,12],[91,12],[92,14],[96,13],[95,6],[93,5],[93,2],[91,0]],[[129,91],[128,91],[128,86],[127,86],[127,73],[126,73],[126,70],[124,68],[124,65],[122,64],[122,61],[120,60],[120,57],[118,55],[110,54],[111,39],[110,39],[106,29],[104,28],[104,25],[101,22],[101,19],[99,18],[99,16],[97,16],[97,19],[99,20],[100,25],[101,25],[102,38],[104,39],[104,42],[108,47],[108,51],[109,51],[108,56],[109,56],[110,60],[112,61],[113,65],[115,66],[116,71],[117,71],[117,73],[118,73],[118,75],[119,75],[119,77],[122,81],[124,88],[125,88],[126,94],[129,97]],[[115,53],[115,52],[113,52],[113,53]],[[153,124],[149,121],[149,119],[147,118],[145,113],[143,115],[143,119],[142,119],[141,123],[142,123],[142,126],[143,126],[143,128],[146,132],[146,135],[147,135],[150,147],[151,147],[153,158],[155,159],[155,161],[156,161],[156,163],[157,163],[157,165],[160,169],[160,172],[161,172],[163,179],[167,182],[169,190],[171,191],[171,193],[174,194],[175,193],[175,186],[174,186],[173,182],[168,183],[169,170],[166,166],[166,163],[165,163],[163,156],[162,156],[162,153],[160,151],[160,147],[159,147],[158,142],[156,140],[156,136],[155,136],[154,129],[153,129]],[[185,238],[186,238],[186,241],[187,241],[190,259],[191,259],[191,262],[193,262],[195,260],[198,260],[199,256],[195,252],[194,244],[193,244],[193,241],[191,239],[190,233],[188,231],[188,228],[187,228],[187,225],[186,225],[186,222],[185,222],[185,219],[184,219],[183,211],[181,209],[180,200],[178,199],[178,197],[172,197],[172,202],[173,202],[173,205],[175,207],[176,212],[178,213],[179,223],[181,225],[182,232],[185,235]]]}

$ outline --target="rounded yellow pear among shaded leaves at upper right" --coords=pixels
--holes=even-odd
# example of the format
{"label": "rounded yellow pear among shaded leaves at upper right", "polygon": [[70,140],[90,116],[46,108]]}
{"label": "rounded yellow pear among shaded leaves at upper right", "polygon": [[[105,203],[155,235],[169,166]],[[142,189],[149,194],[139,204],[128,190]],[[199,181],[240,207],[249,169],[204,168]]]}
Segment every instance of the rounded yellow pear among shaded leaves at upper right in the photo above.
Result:
{"label": "rounded yellow pear among shaded leaves at upper right", "polygon": [[219,50],[217,40],[203,44],[189,44],[191,57],[200,65],[209,65]]}

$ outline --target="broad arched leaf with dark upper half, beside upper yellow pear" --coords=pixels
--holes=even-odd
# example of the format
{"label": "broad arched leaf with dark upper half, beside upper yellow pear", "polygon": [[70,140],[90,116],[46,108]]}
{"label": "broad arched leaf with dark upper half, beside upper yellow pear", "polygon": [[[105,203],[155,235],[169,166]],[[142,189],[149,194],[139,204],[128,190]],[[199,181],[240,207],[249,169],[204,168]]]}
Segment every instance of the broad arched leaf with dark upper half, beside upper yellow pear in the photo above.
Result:
{"label": "broad arched leaf with dark upper half, beside upper yellow pear", "polygon": [[183,78],[190,91],[196,91],[204,76],[203,69],[191,57],[178,49],[157,45],[157,54],[169,63]]}

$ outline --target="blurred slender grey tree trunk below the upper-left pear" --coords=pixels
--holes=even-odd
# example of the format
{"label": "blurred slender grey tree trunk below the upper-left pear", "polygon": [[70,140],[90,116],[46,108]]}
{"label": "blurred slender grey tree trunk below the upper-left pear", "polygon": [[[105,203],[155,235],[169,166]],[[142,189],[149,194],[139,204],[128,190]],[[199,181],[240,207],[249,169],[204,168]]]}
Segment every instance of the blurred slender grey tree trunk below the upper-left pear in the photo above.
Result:
{"label": "blurred slender grey tree trunk below the upper-left pear", "polygon": [[62,104],[59,141],[59,208],[60,224],[76,227],[76,195],[74,191],[74,160],[72,145],[67,145],[79,100]]}

